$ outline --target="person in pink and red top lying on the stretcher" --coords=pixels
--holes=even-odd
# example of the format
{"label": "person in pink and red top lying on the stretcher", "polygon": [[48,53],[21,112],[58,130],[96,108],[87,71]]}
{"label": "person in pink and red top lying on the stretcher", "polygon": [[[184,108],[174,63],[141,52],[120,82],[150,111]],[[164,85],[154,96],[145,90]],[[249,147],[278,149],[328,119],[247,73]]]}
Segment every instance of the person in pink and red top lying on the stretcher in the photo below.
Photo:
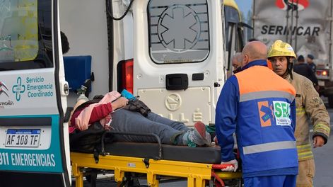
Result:
{"label": "person in pink and red top lying on the stretcher", "polygon": [[[127,99],[129,98],[129,99]],[[100,121],[105,130],[116,132],[154,133],[163,144],[188,145],[189,147],[211,145],[211,136],[204,123],[197,122],[194,128],[184,123],[163,118],[150,111],[137,98],[122,97],[117,91],[107,93],[100,101],[88,101],[81,97],[74,106],[70,132],[87,130],[88,126]],[[117,135],[123,142],[156,142],[153,137]]]}

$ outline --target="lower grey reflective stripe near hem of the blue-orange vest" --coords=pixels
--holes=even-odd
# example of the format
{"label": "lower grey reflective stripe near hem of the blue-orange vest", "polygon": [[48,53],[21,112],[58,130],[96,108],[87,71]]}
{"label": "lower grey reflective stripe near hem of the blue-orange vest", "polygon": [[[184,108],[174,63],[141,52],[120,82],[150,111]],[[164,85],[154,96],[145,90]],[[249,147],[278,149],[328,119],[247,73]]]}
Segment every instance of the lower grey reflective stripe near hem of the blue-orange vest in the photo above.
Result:
{"label": "lower grey reflective stripe near hem of the blue-orange vest", "polygon": [[275,150],[280,150],[280,149],[293,149],[293,148],[296,148],[295,141],[271,142],[271,143],[266,143],[266,144],[250,145],[250,146],[243,147],[243,153],[252,154],[252,153],[258,153],[258,152],[269,152],[269,151],[275,151]]}

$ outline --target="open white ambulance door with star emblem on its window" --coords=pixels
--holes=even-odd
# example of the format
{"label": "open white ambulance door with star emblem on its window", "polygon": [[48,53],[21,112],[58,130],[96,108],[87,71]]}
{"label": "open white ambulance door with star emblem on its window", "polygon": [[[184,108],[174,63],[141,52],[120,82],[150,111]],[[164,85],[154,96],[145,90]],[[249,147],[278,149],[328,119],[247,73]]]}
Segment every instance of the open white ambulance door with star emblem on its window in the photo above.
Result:
{"label": "open white ambulance door with star emblem on its window", "polygon": [[214,123],[225,81],[221,1],[134,1],[134,95],[186,125]]}

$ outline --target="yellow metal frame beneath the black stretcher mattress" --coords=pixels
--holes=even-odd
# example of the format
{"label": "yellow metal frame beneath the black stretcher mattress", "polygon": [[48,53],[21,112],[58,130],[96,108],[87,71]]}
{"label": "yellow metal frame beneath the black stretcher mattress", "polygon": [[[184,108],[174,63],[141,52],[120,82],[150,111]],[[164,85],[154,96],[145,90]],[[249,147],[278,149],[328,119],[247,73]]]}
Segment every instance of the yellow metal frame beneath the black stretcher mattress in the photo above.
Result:
{"label": "yellow metal frame beneath the black stretcher mattress", "polygon": [[[144,163],[144,158],[122,157],[122,156],[102,156],[99,162],[95,163],[93,154],[71,152],[71,164],[73,175],[76,178],[76,187],[83,187],[83,169],[105,169],[115,171],[115,181],[122,183],[125,172],[147,174],[148,186],[157,187],[156,176],[175,176],[187,178],[188,187],[204,187],[206,181],[212,177],[220,179],[240,179],[240,172],[222,172],[216,168],[216,164],[201,164],[194,162],[178,162],[170,160],[148,160],[148,166]],[[221,166],[217,164],[217,166]],[[223,182],[222,182],[223,183]]]}

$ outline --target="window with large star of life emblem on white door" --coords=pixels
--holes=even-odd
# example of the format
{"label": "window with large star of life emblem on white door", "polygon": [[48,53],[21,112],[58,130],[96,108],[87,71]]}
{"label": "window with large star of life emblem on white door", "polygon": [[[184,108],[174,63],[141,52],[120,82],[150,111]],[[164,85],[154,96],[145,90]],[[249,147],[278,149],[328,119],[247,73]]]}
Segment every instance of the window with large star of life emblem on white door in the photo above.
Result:
{"label": "window with large star of life emblem on white door", "polygon": [[202,62],[209,55],[206,0],[151,0],[149,52],[157,64]]}

